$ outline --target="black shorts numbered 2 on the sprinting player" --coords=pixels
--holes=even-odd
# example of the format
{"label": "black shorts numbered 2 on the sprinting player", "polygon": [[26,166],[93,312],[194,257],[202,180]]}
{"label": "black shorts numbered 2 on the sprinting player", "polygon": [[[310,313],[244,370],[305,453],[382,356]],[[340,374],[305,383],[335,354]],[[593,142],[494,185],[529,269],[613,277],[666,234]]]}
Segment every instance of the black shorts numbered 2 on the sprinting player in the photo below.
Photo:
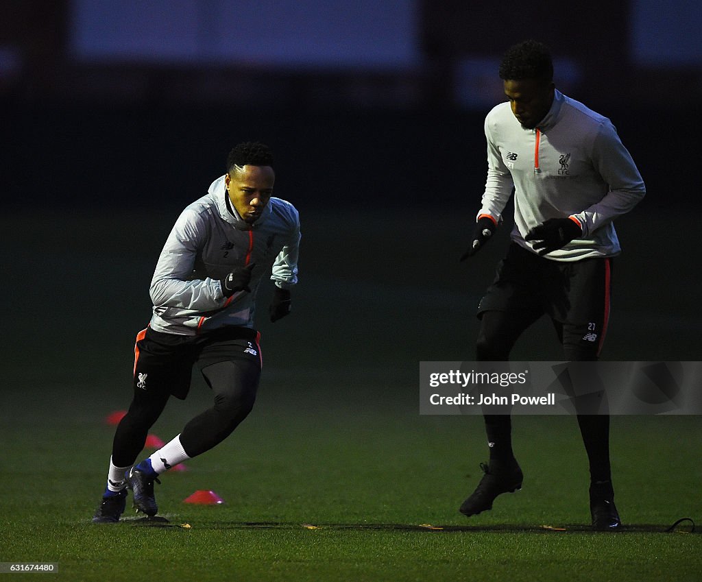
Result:
{"label": "black shorts numbered 2 on the sprinting player", "polygon": [[166,392],[183,400],[190,390],[193,366],[202,370],[232,359],[263,366],[260,333],[229,326],[199,336],[178,336],[147,327],[138,333],[134,345],[134,389]]}

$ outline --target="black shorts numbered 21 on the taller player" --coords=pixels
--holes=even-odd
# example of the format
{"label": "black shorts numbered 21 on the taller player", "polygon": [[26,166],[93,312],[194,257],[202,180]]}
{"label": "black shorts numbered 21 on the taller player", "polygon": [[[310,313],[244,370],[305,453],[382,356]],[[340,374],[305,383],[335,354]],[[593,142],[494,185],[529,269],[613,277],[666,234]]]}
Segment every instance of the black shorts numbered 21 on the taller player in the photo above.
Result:
{"label": "black shorts numbered 21 on the taller player", "polygon": [[611,270],[608,257],[550,260],[512,242],[480,300],[478,317],[486,311],[519,312],[532,320],[546,314],[601,345],[609,323]]}

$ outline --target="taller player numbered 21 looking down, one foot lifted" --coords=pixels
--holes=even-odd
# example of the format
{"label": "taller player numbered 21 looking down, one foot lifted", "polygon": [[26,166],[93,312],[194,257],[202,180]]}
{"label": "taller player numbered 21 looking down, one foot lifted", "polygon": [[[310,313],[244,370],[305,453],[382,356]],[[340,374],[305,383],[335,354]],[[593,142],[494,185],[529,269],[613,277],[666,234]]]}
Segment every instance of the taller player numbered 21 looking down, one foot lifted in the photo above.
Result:
{"label": "taller player numbered 21 looking down, one foot lifted", "polygon": [[[509,359],[536,319],[548,315],[569,361],[597,360],[609,318],[612,258],[621,251],[612,220],[644,197],[643,180],[609,119],[556,90],[548,48],[512,46],[499,74],[508,102],[485,119],[488,171],[470,249],[502,220],[514,189],[515,226],[505,258],[478,307],[477,360]],[[492,508],[522,487],[509,414],[484,414],[488,465],[460,511]],[[621,529],[609,463],[609,416],[578,414],[590,465],[590,513],[597,530]]]}

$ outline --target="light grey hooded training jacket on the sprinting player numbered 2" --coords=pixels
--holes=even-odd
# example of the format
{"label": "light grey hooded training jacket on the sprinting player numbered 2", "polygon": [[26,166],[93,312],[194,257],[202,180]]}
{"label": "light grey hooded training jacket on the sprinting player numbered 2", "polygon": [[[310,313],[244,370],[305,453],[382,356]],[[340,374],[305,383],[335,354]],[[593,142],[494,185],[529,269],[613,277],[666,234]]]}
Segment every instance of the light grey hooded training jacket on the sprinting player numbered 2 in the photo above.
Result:
{"label": "light grey hooded training jacket on the sprinting player numbered 2", "polygon": [[[161,251],[150,295],[150,326],[156,331],[193,336],[223,326],[253,327],[256,291],[272,267],[282,289],[298,282],[300,218],[292,204],[271,198],[253,225],[228,202],[224,176],[206,196],[180,214]],[[254,263],[248,291],[230,298],[220,279],[233,267]]]}

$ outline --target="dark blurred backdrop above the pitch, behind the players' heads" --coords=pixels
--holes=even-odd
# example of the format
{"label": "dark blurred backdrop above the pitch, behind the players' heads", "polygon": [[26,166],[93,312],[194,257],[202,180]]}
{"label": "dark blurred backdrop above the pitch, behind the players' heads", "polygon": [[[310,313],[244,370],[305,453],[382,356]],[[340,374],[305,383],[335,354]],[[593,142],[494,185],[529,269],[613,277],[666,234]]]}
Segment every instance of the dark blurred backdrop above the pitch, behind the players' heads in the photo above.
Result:
{"label": "dark blurred backdrop above the pitch, behind the players' heads", "polygon": [[[702,17],[687,1],[666,4],[665,11],[623,0],[592,1],[578,11],[555,0],[365,2],[363,10],[373,12],[369,22],[391,7],[396,20],[406,15],[407,22],[387,35],[379,29],[374,37],[340,38],[340,55],[352,57],[336,60],[324,59],[326,45],[319,41],[317,50],[312,35],[343,37],[351,26],[340,12],[344,4],[310,3],[307,20],[314,15],[319,22],[310,27],[317,29],[298,36],[285,24],[305,22],[295,3],[263,4],[253,15],[263,30],[242,32],[237,9],[251,11],[255,3],[157,2],[170,8],[165,15],[176,32],[141,42],[159,55],[174,54],[163,57],[100,45],[107,32],[124,44],[136,42],[134,34],[156,34],[153,11],[142,8],[142,15],[131,3],[4,1],[6,204],[184,206],[223,173],[234,143],[261,139],[277,152],[279,194],[300,209],[429,205],[442,212],[451,203],[471,220],[484,184],[482,121],[502,100],[496,65],[507,46],[534,37],[552,47],[557,86],[614,121],[647,183],[644,208],[698,206],[692,176],[702,162],[694,114],[702,48],[687,29]],[[258,36],[277,32],[278,53],[270,39],[260,41],[260,51],[272,56],[260,61],[237,57],[234,48],[208,56],[207,41],[192,54],[178,52],[180,31],[188,30],[183,21],[193,11],[199,29],[222,31],[232,43],[244,36],[254,52]],[[128,25],[130,19],[140,25]],[[385,55],[393,51],[385,36],[407,48]],[[284,60],[301,46],[306,56]],[[366,54],[369,46],[377,54]],[[395,66],[393,59],[402,62]]]}

